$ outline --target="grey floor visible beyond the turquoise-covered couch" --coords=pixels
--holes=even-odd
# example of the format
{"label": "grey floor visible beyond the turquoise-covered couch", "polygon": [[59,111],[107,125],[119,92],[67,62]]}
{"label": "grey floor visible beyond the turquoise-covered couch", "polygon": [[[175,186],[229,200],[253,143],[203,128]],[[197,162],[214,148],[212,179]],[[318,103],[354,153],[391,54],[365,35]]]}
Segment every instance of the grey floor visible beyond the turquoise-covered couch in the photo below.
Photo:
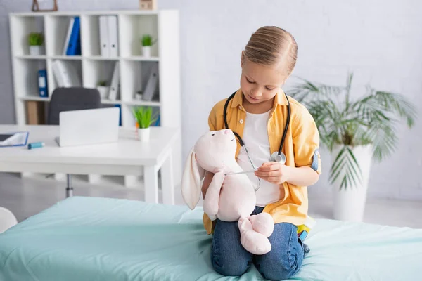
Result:
{"label": "grey floor visible beyond the turquoise-covered couch", "polygon": [[[124,188],[118,181],[107,185],[91,185],[74,177],[74,195],[113,197],[143,200],[143,190]],[[112,178],[113,180],[113,178]],[[184,204],[180,192],[176,203]],[[65,183],[53,179],[20,178],[17,174],[0,173],[0,206],[10,209],[18,221],[37,214],[56,202],[65,199]],[[331,202],[309,198],[309,214],[314,218],[332,218]],[[399,200],[369,200],[364,221],[388,226],[422,228],[422,202]]]}

